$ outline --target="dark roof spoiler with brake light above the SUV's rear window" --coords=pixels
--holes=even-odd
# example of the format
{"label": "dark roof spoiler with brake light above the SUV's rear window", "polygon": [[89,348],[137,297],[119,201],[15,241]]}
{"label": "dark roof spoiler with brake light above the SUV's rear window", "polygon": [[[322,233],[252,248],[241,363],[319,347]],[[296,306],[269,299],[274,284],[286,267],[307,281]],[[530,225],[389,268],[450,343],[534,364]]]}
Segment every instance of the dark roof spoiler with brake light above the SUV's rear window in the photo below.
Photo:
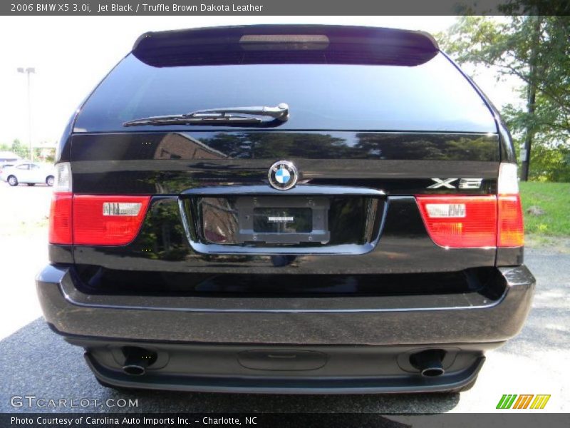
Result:
{"label": "dark roof spoiler with brake light above the SUV's rear window", "polygon": [[142,34],[133,55],[155,67],[259,63],[417,66],[439,51],[423,31],[366,26],[256,25]]}

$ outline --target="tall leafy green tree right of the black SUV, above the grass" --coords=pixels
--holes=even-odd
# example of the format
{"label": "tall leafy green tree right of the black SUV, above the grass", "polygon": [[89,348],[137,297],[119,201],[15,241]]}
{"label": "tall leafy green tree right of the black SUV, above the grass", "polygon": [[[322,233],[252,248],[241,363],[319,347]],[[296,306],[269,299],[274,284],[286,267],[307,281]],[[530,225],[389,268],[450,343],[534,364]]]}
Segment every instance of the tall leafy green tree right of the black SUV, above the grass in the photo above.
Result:
{"label": "tall leafy green tree right of the black SUV, above the grass", "polygon": [[[529,177],[568,180],[569,158],[561,153],[570,150],[570,16],[541,15],[544,4],[512,2],[512,8],[538,13],[532,16],[462,16],[447,34],[439,35],[440,44],[460,64],[494,66],[497,78],[517,76],[522,81],[524,107],[509,104],[502,115],[517,143],[537,149],[530,151]],[[559,162],[539,159],[546,153],[556,153]]]}

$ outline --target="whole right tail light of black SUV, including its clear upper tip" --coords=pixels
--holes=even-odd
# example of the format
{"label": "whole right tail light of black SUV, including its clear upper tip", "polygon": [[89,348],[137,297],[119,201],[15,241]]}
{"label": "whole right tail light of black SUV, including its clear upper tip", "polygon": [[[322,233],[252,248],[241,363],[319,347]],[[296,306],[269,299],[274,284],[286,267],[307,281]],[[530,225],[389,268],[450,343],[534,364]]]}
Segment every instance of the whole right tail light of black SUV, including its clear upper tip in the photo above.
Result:
{"label": "whole right tail light of black SUV, including its clear upper tip", "polygon": [[498,195],[416,196],[430,238],[447,248],[524,245],[517,165],[500,165],[497,188]]}

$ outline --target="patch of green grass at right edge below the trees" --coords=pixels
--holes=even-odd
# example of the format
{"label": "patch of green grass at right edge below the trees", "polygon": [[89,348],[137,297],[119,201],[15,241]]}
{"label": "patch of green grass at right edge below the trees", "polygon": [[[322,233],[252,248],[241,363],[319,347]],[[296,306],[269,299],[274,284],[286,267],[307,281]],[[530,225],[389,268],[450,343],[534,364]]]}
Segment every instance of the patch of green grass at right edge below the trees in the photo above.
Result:
{"label": "patch of green grass at right edge below the trees", "polygon": [[[570,183],[521,182],[524,230],[531,235],[570,236]],[[539,207],[542,215],[527,210]]]}

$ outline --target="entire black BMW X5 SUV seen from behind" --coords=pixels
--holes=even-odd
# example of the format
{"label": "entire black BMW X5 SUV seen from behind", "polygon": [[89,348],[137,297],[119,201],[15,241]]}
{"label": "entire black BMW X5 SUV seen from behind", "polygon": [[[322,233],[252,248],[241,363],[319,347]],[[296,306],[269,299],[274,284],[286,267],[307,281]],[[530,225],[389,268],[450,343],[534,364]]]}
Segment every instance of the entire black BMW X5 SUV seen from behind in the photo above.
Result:
{"label": "entire black BMW X5 SUV seen from behind", "polygon": [[512,141],[427,34],[143,34],[56,160],[46,320],[105,386],[470,387],[519,332]]}

